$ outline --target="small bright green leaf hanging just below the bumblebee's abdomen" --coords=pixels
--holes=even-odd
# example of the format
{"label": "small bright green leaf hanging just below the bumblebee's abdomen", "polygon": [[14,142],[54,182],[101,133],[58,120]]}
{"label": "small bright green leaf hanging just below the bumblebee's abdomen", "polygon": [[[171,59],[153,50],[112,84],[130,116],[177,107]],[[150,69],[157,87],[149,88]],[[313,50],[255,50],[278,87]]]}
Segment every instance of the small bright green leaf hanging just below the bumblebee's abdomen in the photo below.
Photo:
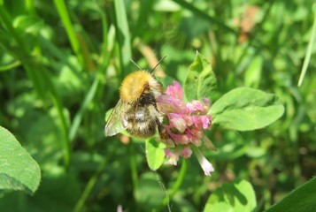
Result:
{"label": "small bright green leaf hanging just below the bumblebee's abdomen", "polygon": [[164,162],[166,145],[154,139],[146,140],[146,157],[150,170],[158,170]]}

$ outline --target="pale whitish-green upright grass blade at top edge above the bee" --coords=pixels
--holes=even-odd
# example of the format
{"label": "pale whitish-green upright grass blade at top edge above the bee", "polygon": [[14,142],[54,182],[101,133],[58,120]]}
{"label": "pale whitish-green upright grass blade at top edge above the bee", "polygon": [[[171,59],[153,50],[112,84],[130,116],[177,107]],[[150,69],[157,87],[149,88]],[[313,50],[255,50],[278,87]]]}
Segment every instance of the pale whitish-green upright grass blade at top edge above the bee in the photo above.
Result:
{"label": "pale whitish-green upright grass blade at top edge above the bee", "polygon": [[119,42],[119,60],[122,74],[127,72],[130,64],[129,59],[132,58],[132,48],[130,41],[130,34],[127,22],[127,12],[123,0],[114,1],[115,17],[116,17],[116,31]]}

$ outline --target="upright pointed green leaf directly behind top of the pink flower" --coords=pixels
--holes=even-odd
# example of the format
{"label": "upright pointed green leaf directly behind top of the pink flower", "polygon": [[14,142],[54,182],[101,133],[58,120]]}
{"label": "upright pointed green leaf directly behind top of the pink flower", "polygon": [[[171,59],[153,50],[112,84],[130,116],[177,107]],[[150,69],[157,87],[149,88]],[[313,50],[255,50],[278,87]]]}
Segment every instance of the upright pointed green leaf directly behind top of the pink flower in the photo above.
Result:
{"label": "upright pointed green leaf directly behind top of the pink flower", "polygon": [[189,101],[211,99],[212,89],[216,87],[216,77],[211,64],[197,52],[195,61],[189,66],[188,77],[184,83],[185,95]]}

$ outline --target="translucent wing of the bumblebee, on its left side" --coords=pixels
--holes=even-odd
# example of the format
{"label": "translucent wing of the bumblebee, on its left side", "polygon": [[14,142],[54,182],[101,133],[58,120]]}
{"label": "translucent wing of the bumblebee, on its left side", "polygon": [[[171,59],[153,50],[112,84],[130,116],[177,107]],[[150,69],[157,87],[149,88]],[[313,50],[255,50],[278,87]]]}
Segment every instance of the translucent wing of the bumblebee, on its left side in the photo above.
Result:
{"label": "translucent wing of the bumblebee, on its left side", "polygon": [[105,136],[112,136],[127,128],[125,113],[127,111],[127,103],[119,102],[113,109],[109,119],[106,122],[104,133]]}

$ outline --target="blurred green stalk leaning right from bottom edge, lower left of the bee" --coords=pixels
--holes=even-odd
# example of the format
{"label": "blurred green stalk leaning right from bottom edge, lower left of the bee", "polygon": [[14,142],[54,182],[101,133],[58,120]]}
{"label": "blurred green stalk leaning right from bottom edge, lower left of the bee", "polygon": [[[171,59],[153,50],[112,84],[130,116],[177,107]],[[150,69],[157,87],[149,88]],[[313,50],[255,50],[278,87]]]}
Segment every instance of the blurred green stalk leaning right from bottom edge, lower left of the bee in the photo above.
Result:
{"label": "blurred green stalk leaning right from bottom edge, lower left of the bee", "polygon": [[100,174],[104,170],[104,166],[106,165],[106,160],[100,163],[99,167],[96,170],[96,173],[89,178],[87,186],[84,188],[83,192],[81,193],[81,197],[77,201],[75,207],[73,208],[73,212],[79,212],[84,206],[84,203],[87,201],[89,194],[91,193],[92,189],[96,186],[96,182],[98,178],[100,178]]}

